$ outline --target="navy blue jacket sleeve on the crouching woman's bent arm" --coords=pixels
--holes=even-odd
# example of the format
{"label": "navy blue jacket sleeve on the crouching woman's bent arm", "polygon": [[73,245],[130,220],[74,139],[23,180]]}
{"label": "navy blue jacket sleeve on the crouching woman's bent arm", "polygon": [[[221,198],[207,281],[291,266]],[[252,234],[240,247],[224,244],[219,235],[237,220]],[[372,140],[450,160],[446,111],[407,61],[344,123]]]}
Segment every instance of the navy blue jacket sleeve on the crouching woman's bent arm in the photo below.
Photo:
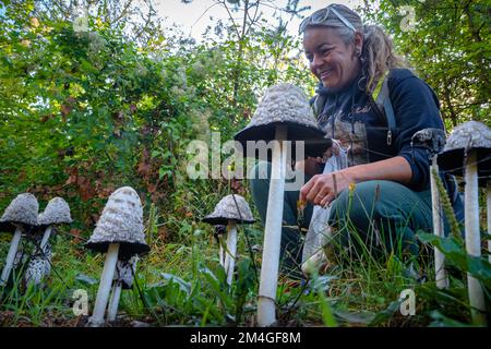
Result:
{"label": "navy blue jacket sleeve on the crouching woman's bent arm", "polygon": [[391,103],[396,118],[394,145],[397,155],[410,165],[412,178],[407,184],[415,191],[430,186],[430,160],[424,148],[411,148],[412,135],[422,129],[444,130],[440,104],[430,86],[412,73],[388,81]]}

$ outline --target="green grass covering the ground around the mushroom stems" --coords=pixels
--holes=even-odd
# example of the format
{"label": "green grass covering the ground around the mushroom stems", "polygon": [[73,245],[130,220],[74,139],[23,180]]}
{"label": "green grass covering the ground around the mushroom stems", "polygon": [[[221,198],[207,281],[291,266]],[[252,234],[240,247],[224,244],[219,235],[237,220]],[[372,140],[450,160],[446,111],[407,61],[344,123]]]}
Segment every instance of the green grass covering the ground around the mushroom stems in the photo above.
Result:
{"label": "green grass covering the ground around the mushroom stems", "polygon": [[[123,290],[119,317],[113,323],[130,326],[132,321],[155,326],[253,326],[255,325],[258,281],[254,263],[243,230],[239,230],[235,282],[229,288],[218,263],[218,245],[211,228],[192,219],[168,219],[158,224],[151,209],[147,241],[152,250],[137,265],[136,282]],[[352,229],[349,221],[344,228]],[[88,233],[88,232],[87,232]],[[248,229],[251,245],[261,244],[261,227]],[[381,241],[383,239],[383,231]],[[169,237],[177,237],[170,239]],[[292,285],[287,277],[278,284],[278,324],[283,326],[466,326],[471,324],[465,284],[466,266],[452,264],[451,288],[439,290],[433,279],[431,257],[411,258],[400,249],[386,251],[367,245],[351,233],[360,249],[338,246],[323,275],[315,274],[307,285]],[[0,236],[0,255],[9,248]],[[87,291],[93,309],[104,256],[86,251],[83,242],[63,231],[52,240],[50,277],[41,287],[22,285],[16,270],[12,284],[0,288],[1,326],[83,326],[87,316],[72,311],[73,292]],[[454,251],[455,252],[455,251]],[[431,255],[431,250],[427,251]],[[261,253],[253,253],[258,267]],[[482,264],[484,265],[484,264]],[[489,267],[488,265],[483,266]],[[417,275],[426,275],[421,282]],[[490,269],[488,269],[489,273]],[[93,285],[77,276],[95,280]],[[482,276],[483,280],[486,275]],[[399,294],[412,289],[417,296],[416,315],[403,316]],[[488,293],[488,300],[489,300]]]}

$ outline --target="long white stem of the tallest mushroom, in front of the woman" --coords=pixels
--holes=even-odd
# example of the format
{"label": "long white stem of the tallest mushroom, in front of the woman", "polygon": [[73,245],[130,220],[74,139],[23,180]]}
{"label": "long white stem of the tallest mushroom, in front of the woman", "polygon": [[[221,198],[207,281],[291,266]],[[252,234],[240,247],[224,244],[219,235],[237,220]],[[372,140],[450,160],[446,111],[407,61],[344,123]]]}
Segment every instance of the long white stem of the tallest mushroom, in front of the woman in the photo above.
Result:
{"label": "long white stem of the tallest mushroom, in front of the woman", "polygon": [[279,248],[282,241],[283,200],[285,196],[285,170],[287,154],[286,149],[284,149],[283,141],[285,141],[286,137],[287,128],[285,125],[276,125],[258,301],[259,326],[270,326],[276,321],[275,303],[276,288],[278,286]]}

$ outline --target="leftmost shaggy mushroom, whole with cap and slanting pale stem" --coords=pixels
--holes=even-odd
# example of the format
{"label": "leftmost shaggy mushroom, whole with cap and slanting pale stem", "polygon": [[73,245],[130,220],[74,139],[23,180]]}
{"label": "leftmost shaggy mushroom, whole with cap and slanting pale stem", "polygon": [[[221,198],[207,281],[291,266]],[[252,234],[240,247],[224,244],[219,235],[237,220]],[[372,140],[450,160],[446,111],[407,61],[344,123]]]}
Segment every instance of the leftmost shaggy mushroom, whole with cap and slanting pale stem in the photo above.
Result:
{"label": "leftmost shaggy mushroom, whole with cap and slanting pale stem", "polygon": [[0,230],[13,232],[0,285],[5,285],[9,279],[22,233],[32,232],[37,227],[38,209],[39,204],[33,194],[19,194],[0,218]]}

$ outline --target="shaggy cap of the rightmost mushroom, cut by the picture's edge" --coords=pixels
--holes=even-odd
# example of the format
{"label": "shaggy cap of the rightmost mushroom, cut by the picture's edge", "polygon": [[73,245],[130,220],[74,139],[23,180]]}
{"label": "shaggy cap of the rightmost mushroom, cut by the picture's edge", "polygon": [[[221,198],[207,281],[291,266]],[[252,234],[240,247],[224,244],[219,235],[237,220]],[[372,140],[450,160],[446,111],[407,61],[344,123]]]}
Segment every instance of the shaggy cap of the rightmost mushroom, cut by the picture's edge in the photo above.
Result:
{"label": "shaggy cap of the rightmost mushroom, cut by the picture's edge", "polygon": [[477,152],[480,185],[491,177],[491,129],[479,121],[468,121],[455,127],[439,155],[439,167],[450,173],[464,176],[464,158]]}

